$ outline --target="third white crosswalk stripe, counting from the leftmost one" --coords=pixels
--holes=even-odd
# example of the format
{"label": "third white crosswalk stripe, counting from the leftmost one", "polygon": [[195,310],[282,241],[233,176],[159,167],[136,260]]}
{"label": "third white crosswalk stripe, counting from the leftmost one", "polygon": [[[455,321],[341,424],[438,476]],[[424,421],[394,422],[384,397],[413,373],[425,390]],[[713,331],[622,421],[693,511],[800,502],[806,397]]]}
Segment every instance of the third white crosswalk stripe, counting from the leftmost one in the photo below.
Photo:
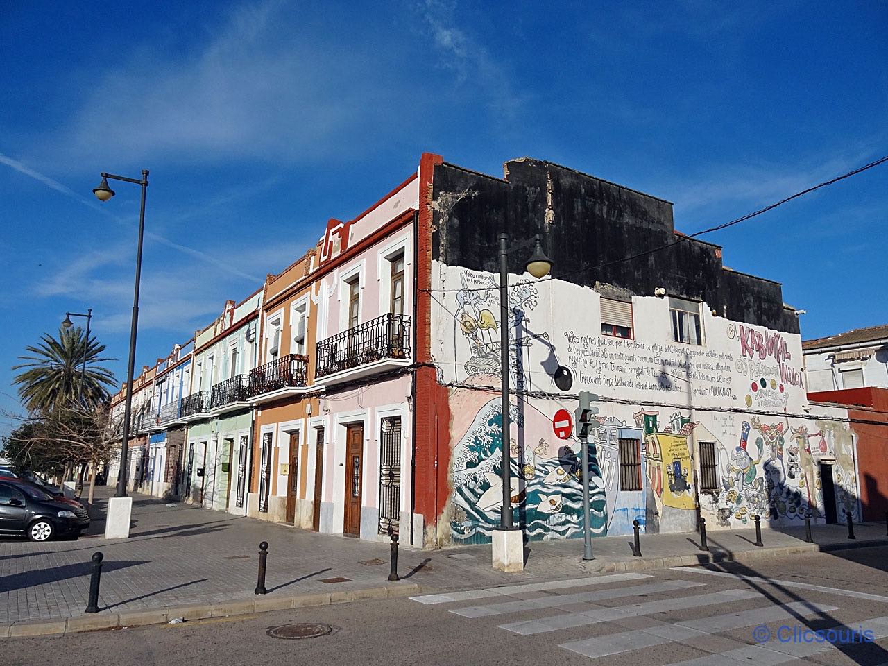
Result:
{"label": "third white crosswalk stripe, counting from the leftmost one", "polygon": [[579,613],[551,615],[536,620],[500,624],[499,628],[516,634],[521,634],[522,636],[529,636],[531,634],[540,634],[546,631],[583,627],[598,622],[622,620],[627,617],[638,615],[676,611],[684,608],[715,606],[716,604],[725,604],[730,601],[756,599],[757,597],[764,596],[765,595],[761,592],[751,590],[725,590],[712,592],[710,594],[700,594],[695,597],[670,597],[669,599],[657,599],[655,601],[629,604],[628,606],[596,608],[594,610],[581,611]]}

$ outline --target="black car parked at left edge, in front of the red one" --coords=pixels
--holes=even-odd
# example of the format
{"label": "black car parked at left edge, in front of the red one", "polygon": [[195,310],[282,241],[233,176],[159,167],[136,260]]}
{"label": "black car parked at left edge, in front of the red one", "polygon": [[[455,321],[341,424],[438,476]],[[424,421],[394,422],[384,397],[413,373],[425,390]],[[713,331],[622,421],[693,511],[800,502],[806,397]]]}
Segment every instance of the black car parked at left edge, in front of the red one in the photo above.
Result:
{"label": "black car parked at left edge, in front of the red one", "polygon": [[0,533],[27,535],[31,541],[79,535],[90,527],[83,507],[56,501],[27,483],[0,481]]}

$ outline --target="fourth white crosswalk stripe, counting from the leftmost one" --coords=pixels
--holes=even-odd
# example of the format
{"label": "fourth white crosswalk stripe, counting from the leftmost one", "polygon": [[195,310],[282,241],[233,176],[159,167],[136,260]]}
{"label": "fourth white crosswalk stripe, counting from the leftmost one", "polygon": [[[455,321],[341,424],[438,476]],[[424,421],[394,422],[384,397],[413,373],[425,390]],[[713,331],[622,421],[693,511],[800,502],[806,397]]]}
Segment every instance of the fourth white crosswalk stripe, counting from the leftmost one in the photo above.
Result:
{"label": "fourth white crosswalk stripe, counting from the leftmost one", "polygon": [[658,646],[688,638],[702,638],[721,631],[741,629],[751,624],[764,624],[784,620],[789,617],[804,617],[837,609],[838,607],[826,604],[793,601],[789,604],[752,608],[737,613],[702,617],[687,622],[656,622],[654,626],[646,627],[645,629],[622,631],[598,638],[572,640],[562,643],[559,647],[587,657],[602,657],[608,654],[620,654],[630,650],[638,650],[641,647]]}

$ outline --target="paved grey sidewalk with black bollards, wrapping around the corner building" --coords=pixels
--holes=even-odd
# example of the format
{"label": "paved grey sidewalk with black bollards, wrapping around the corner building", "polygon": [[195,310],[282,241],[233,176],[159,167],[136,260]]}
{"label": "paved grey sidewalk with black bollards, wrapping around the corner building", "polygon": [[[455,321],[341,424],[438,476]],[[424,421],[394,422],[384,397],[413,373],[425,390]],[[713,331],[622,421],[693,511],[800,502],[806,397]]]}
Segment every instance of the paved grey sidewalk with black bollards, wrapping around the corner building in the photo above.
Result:
{"label": "paved grey sidewalk with black bollards, wrapping around the corner building", "polygon": [[[857,539],[853,542],[847,539],[844,525],[813,527],[815,543],[804,542],[804,528],[765,528],[764,547],[754,545],[751,528],[710,530],[710,552],[699,550],[699,535],[695,532],[642,535],[640,558],[632,556],[631,536],[603,537],[593,540],[595,559],[591,561],[582,559],[582,539],[570,539],[528,543],[527,566],[519,574],[493,570],[489,546],[439,551],[401,546],[401,581],[388,583],[388,543],[320,535],[148,496],[133,496],[131,537],[109,541],[102,535],[107,497],[111,494],[111,488],[97,488],[96,503],[91,507],[91,534],[77,541],[0,539],[0,637],[96,629],[118,622],[164,622],[183,614],[194,619],[725,559],[754,563],[794,553],[888,545],[883,523],[855,525]],[[269,543],[269,593],[256,596],[253,590],[261,541]],[[83,615],[95,551],[105,555],[101,611]]]}

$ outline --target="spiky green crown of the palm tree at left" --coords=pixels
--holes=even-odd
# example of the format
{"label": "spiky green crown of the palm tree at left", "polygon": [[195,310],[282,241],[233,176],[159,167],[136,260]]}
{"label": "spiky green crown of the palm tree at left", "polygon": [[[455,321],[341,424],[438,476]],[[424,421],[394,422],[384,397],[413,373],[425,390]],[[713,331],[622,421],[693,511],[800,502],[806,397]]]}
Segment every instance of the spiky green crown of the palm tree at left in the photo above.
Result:
{"label": "spiky green crown of the palm tree at left", "polygon": [[115,385],[115,377],[97,364],[115,359],[100,358],[105,345],[94,336],[87,342],[79,326],[60,328],[58,338],[45,333],[40,345],[25,347],[25,351],[32,355],[19,357],[26,362],[12,367],[22,370],[12,383],[18,385],[21,402],[30,412],[52,412],[78,400],[84,355],[83,405],[94,407],[110,397],[108,387]]}

